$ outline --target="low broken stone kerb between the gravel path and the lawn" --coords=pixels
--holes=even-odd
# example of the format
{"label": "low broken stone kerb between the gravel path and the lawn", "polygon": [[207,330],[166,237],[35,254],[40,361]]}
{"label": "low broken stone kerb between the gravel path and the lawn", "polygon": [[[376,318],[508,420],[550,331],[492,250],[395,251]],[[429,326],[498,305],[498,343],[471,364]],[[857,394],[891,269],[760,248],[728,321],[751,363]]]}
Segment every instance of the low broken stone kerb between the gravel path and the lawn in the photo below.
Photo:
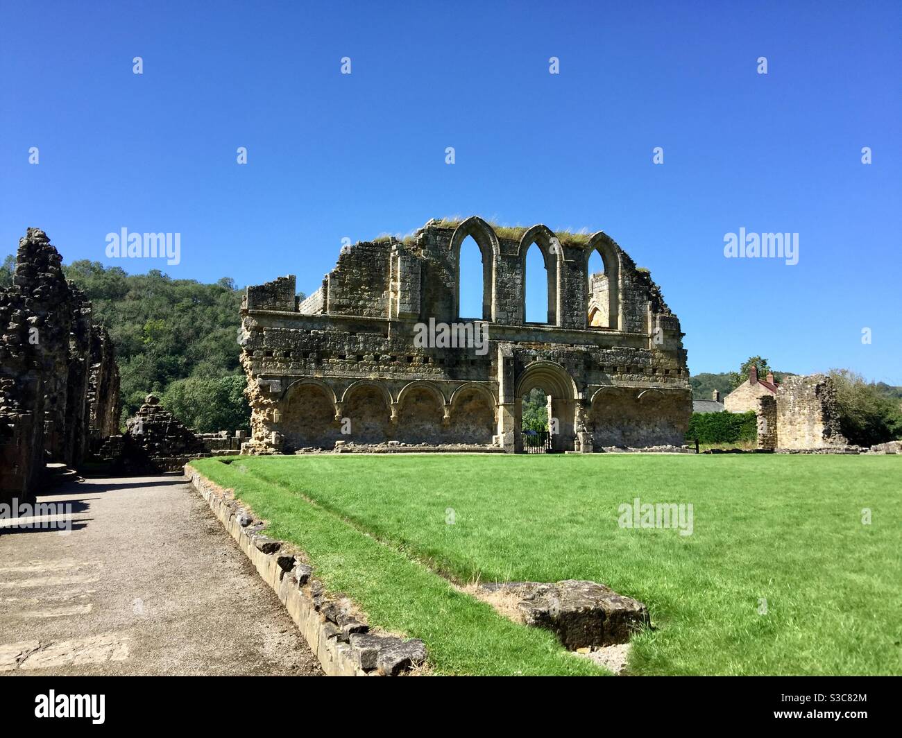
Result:
{"label": "low broken stone kerb between the gravel path and the lawn", "polygon": [[347,599],[330,599],[290,544],[269,538],[264,523],[191,465],[185,475],[216,518],[237,541],[281,603],[330,677],[398,676],[423,665],[426,646],[419,639],[371,632]]}

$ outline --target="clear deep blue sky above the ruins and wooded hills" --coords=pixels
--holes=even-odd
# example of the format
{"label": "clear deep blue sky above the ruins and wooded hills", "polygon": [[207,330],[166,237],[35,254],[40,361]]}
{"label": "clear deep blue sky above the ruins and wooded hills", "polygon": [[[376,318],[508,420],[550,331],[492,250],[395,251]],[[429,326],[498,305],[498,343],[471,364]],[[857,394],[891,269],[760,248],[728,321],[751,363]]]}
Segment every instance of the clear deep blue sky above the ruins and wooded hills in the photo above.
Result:
{"label": "clear deep blue sky above the ruins and wooded hills", "polygon": [[[178,232],[172,277],[309,292],[343,237],[430,217],[602,229],[693,373],[902,384],[900,39],[897,2],[2,0],[0,255],[27,226],[67,262]],[[798,233],[799,262],[725,259],[740,227]]]}

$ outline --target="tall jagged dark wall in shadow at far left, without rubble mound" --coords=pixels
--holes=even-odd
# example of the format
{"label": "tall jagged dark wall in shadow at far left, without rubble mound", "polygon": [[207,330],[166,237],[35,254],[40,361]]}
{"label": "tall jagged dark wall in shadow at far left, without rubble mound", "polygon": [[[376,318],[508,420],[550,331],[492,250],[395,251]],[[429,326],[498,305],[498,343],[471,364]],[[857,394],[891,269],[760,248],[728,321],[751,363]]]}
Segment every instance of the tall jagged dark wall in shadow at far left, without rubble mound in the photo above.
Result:
{"label": "tall jagged dark wall in shadow at far left, without rubble mound", "polygon": [[78,466],[92,436],[118,418],[112,346],[61,262],[29,228],[13,286],[0,290],[0,500],[29,498],[48,462]]}

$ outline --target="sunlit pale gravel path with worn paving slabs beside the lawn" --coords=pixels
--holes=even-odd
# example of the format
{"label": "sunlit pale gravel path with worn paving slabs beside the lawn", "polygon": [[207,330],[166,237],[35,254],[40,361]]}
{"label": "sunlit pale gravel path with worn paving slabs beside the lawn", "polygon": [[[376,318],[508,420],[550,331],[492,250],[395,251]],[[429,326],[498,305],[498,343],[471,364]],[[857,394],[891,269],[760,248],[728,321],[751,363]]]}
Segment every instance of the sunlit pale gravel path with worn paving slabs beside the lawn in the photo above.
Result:
{"label": "sunlit pale gravel path with worn paving slabs beside the lawn", "polygon": [[183,476],[88,479],[38,502],[70,503],[72,526],[0,527],[0,672],[322,673]]}

